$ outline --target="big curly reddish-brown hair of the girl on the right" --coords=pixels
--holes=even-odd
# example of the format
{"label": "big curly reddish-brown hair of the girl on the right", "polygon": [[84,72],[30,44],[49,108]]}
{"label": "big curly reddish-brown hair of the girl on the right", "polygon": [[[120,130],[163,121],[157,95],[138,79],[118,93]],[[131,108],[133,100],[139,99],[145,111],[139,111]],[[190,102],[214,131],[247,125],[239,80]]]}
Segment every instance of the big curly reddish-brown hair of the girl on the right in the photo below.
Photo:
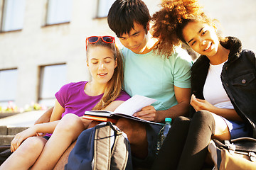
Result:
{"label": "big curly reddish-brown hair of the girl on the right", "polygon": [[182,30],[191,21],[210,23],[197,0],[162,0],[161,9],[152,16],[152,35],[158,38],[156,49],[171,55],[176,45],[183,42]]}

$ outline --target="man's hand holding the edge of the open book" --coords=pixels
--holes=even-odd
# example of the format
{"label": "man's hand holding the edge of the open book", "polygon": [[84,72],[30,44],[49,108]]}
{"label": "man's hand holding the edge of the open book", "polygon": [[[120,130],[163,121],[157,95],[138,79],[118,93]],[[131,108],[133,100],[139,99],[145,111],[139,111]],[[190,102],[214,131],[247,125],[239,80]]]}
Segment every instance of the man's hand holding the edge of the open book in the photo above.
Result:
{"label": "man's hand holding the edge of the open book", "polygon": [[145,106],[142,111],[134,113],[134,116],[154,122],[156,121],[156,109],[154,106]]}

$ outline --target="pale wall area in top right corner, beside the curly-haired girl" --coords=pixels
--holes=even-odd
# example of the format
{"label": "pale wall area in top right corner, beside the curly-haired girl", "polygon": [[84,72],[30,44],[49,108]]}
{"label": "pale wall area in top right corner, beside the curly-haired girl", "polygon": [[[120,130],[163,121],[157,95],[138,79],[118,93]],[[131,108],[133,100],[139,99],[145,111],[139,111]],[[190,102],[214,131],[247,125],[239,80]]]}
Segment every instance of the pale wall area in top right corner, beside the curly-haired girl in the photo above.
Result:
{"label": "pale wall area in top right corner, beside the curly-haired girl", "polygon": [[240,38],[244,49],[256,52],[255,0],[199,0],[211,18],[220,22],[224,35]]}

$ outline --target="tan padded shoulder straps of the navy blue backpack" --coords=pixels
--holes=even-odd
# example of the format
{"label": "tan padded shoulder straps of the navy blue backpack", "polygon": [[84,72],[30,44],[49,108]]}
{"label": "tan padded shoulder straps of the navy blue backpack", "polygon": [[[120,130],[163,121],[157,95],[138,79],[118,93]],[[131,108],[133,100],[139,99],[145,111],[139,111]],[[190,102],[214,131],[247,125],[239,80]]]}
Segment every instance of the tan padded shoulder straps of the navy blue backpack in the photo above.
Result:
{"label": "tan padded shoulder straps of the navy blue backpack", "polygon": [[125,169],[129,158],[129,141],[120,131],[107,122],[95,127],[93,169]]}

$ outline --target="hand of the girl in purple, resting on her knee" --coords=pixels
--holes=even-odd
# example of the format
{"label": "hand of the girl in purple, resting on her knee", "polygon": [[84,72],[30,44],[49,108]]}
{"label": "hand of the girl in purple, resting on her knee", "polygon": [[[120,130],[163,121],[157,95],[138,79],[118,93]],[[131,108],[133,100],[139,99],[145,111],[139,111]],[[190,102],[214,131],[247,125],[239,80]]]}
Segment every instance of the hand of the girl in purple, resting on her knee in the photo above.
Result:
{"label": "hand of the girl in purple, resting on her knee", "polygon": [[31,128],[28,128],[22,132],[19,132],[17,135],[15,135],[14,140],[11,141],[11,152],[16,151],[18,147],[21,145],[21,143],[26,140],[28,137],[36,136],[36,128],[35,126],[32,126]]}

